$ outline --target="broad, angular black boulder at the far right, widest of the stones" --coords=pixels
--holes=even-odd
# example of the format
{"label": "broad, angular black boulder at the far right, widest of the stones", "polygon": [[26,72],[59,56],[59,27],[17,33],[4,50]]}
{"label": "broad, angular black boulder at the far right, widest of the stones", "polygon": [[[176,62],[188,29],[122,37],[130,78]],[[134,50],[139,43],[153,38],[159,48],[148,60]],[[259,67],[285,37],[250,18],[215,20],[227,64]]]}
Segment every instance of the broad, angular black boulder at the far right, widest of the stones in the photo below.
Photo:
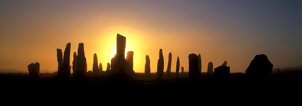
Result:
{"label": "broad, angular black boulder at the far right, widest of the stones", "polygon": [[247,77],[268,77],[271,75],[273,64],[264,54],[256,55],[246,69]]}

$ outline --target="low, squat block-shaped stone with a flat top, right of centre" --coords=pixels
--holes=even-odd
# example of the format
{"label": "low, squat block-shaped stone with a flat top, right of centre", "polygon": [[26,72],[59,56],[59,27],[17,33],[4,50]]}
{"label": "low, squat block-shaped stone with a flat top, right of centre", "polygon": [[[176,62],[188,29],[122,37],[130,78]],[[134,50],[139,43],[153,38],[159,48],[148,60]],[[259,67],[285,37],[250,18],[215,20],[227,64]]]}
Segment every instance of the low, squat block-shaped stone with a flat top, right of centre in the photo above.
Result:
{"label": "low, squat block-shaped stone with a flat top, right of centre", "polygon": [[215,78],[228,78],[230,77],[230,67],[218,66],[214,69]]}

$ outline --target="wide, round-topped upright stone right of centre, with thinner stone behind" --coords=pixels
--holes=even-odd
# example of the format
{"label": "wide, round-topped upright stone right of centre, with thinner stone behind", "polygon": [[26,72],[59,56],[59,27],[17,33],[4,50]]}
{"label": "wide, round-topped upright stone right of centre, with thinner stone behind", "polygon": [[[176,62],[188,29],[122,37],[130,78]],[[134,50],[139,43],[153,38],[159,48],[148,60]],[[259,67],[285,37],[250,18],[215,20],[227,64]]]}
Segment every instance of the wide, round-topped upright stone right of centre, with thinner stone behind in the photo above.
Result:
{"label": "wide, round-topped upright stone right of centre, with thinner stone behind", "polygon": [[192,53],[188,57],[189,57],[189,79],[198,80],[200,74],[198,68],[198,56]]}

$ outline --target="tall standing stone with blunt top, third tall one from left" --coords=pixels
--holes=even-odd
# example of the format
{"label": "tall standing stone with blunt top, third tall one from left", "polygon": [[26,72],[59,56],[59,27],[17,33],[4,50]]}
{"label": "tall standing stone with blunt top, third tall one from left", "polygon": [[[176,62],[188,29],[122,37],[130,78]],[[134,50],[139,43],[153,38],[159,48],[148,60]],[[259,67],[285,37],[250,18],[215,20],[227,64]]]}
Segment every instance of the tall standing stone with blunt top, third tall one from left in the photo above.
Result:
{"label": "tall standing stone with blunt top, third tall one from left", "polygon": [[85,52],[84,52],[84,43],[79,43],[78,47],[78,60],[77,60],[77,72],[76,72],[76,78],[77,79],[85,79],[86,77],[86,58],[85,58]]}

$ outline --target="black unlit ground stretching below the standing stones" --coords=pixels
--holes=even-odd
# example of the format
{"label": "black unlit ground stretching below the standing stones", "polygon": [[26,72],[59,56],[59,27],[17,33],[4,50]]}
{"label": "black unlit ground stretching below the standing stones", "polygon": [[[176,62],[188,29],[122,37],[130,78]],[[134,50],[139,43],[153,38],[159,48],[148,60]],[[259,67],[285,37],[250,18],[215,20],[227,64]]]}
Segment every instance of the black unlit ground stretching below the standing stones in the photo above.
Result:
{"label": "black unlit ground stretching below the standing stones", "polygon": [[288,71],[269,78],[247,78],[231,73],[228,79],[201,74],[190,81],[188,74],[175,79],[136,73],[133,78],[116,79],[103,74],[88,75],[85,81],[63,80],[53,73],[31,78],[26,73],[1,73],[1,100],[24,101],[11,104],[98,104],[98,105],[271,105],[301,101],[302,71]]}

